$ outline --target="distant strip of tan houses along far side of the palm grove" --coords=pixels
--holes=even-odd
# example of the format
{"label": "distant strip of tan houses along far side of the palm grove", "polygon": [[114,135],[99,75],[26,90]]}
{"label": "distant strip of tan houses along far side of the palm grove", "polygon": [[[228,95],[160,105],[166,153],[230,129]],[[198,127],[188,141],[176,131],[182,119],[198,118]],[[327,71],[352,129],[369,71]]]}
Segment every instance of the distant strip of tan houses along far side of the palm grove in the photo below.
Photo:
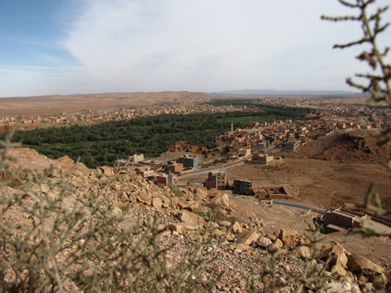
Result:
{"label": "distant strip of tan houses along far side of the palm grove", "polygon": [[[229,97],[232,99],[232,97]],[[85,110],[75,113],[58,112],[46,116],[24,116],[19,118],[21,125],[18,128],[27,130],[51,126],[67,126],[71,124],[87,125],[92,123],[103,123],[106,121],[118,121],[121,119],[132,119],[137,117],[155,116],[159,114],[190,114],[190,113],[219,113],[230,111],[261,111],[256,107],[246,106],[213,106],[208,104],[213,99],[227,99],[227,97],[210,96],[208,98],[182,98],[173,102],[159,101],[151,106],[132,106],[119,109],[101,109],[97,111]],[[233,99],[245,99],[243,97]],[[248,98],[246,98],[248,99]],[[372,109],[365,104],[343,104],[333,99],[322,99],[318,97],[262,97],[251,99],[252,104],[267,104],[271,106],[294,106],[314,109],[311,116],[318,116],[323,119],[339,121],[345,119],[363,128],[387,128],[391,123],[390,109]],[[18,116],[0,116],[0,131],[9,129],[18,120]]]}

